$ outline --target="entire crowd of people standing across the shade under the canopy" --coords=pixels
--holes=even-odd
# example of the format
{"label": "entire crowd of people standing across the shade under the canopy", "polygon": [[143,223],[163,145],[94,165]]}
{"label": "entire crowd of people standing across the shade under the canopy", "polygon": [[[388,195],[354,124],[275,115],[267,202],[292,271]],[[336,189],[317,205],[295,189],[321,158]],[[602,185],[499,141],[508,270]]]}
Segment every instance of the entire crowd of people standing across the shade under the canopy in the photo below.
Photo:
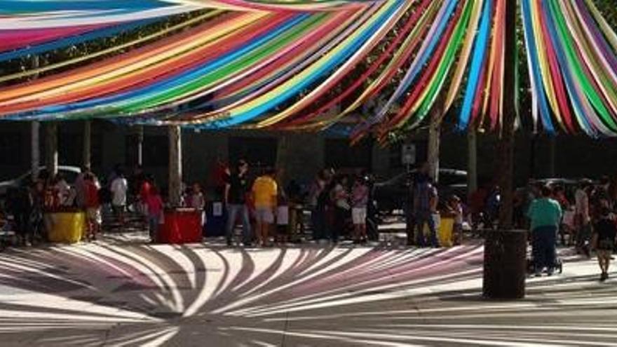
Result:
{"label": "entire crowd of people standing across the shade under the canopy", "polygon": [[[353,243],[377,239],[377,208],[372,203],[372,179],[367,173],[337,175],[332,169],[318,172],[308,189],[292,181],[283,186],[280,172],[273,168],[251,172],[240,160],[231,170],[222,167],[215,185],[220,188],[224,235],[228,245],[269,246],[287,243],[304,233],[304,211],[311,213],[312,238],[318,243],[338,243],[341,237]],[[454,244],[462,242],[463,223],[471,229],[489,229],[499,215],[499,187],[482,187],[463,204],[459,196],[440,202],[437,186],[428,175],[428,165],[412,177],[405,208],[407,244],[440,247],[436,215],[454,219]],[[184,189],[183,207],[201,212],[206,223],[207,201],[201,185]],[[96,240],[102,231],[102,207],[109,206],[122,229],[130,210],[142,219],[152,242],[164,222],[165,202],[154,177],[141,167],[126,177],[121,165],[104,179],[83,168],[73,184],[62,175],[41,176],[32,184],[9,191],[5,210],[15,220],[19,242],[30,245],[44,240],[53,219],[48,213],[81,210],[86,215],[83,240]],[[372,226],[367,228],[367,224]],[[601,278],[608,278],[611,252],[616,249],[617,179],[602,178],[598,184],[581,180],[576,186],[530,182],[515,192],[515,225],[531,231],[536,274],[555,271],[556,245],[573,246],[590,257],[595,251]],[[236,227],[241,238],[236,240]]]}

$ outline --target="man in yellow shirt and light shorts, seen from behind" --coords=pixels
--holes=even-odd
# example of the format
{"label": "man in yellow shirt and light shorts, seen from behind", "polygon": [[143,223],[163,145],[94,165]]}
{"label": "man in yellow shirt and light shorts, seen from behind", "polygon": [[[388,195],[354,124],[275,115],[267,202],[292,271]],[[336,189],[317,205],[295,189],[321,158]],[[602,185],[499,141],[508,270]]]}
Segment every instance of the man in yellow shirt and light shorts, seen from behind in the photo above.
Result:
{"label": "man in yellow shirt and light shorts, seen from behind", "polygon": [[255,202],[255,219],[257,220],[257,243],[267,245],[268,231],[274,223],[274,213],[276,211],[276,196],[278,186],[274,179],[275,171],[266,170],[266,174],[255,179],[252,193]]}

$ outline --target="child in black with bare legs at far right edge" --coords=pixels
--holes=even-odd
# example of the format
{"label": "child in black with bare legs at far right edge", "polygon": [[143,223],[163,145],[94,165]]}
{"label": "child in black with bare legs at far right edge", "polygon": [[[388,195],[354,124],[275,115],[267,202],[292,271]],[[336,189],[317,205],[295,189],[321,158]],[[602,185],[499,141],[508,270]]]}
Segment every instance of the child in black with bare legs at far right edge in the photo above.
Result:
{"label": "child in black with bare legs at far right edge", "polygon": [[599,219],[594,225],[595,250],[598,258],[600,271],[600,282],[604,282],[609,278],[609,265],[615,247],[615,238],[617,236],[617,226],[611,218],[611,210],[604,207],[599,212]]}

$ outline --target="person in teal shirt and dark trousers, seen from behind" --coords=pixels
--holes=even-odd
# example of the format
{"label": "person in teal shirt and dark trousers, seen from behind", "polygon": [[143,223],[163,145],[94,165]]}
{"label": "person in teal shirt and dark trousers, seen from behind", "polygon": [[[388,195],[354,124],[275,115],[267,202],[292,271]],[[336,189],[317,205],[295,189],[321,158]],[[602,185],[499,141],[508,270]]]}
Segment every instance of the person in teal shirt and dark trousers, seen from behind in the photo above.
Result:
{"label": "person in teal shirt and dark trousers, seen from behind", "polygon": [[562,207],[551,196],[550,187],[543,186],[541,197],[531,203],[527,212],[527,217],[531,220],[531,247],[536,276],[540,276],[544,268],[548,275],[555,271],[557,232],[562,220]]}

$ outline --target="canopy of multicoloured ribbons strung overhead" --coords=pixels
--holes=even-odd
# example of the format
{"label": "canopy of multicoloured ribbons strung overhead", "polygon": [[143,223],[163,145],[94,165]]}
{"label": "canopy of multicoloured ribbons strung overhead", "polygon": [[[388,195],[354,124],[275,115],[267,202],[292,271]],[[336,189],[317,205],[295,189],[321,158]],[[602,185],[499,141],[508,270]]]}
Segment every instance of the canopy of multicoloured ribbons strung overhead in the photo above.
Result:
{"label": "canopy of multicoloured ribbons strung overhead", "polygon": [[[4,73],[0,119],[280,130],[351,120],[359,138],[456,103],[461,130],[501,126],[506,0],[0,0],[0,63],[195,10],[112,48]],[[617,134],[617,34],[592,0],[521,0],[520,13],[534,124]]]}

